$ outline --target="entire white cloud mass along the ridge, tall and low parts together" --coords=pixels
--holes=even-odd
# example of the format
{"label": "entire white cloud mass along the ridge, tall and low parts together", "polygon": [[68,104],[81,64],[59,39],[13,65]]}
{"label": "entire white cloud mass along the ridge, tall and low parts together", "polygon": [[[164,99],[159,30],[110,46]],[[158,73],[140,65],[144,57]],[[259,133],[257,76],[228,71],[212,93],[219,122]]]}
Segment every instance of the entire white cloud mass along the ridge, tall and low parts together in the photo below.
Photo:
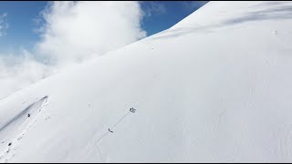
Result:
{"label": "entire white cloud mass along the ridge, tall and low parts together", "polygon": [[50,2],[41,16],[35,20],[42,23],[41,40],[32,53],[0,55],[0,98],[146,36],[139,2]]}

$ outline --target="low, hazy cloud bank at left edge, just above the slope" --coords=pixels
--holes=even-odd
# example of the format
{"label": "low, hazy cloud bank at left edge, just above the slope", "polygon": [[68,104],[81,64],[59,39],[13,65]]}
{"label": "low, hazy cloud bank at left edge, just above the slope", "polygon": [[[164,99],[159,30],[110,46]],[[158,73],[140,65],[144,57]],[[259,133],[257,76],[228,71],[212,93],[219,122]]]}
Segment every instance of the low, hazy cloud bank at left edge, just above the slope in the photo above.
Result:
{"label": "low, hazy cloud bank at left edge, just above the slope", "polygon": [[0,56],[0,99],[36,81],[51,75],[54,67],[48,67],[34,59],[27,51],[22,56]]}

